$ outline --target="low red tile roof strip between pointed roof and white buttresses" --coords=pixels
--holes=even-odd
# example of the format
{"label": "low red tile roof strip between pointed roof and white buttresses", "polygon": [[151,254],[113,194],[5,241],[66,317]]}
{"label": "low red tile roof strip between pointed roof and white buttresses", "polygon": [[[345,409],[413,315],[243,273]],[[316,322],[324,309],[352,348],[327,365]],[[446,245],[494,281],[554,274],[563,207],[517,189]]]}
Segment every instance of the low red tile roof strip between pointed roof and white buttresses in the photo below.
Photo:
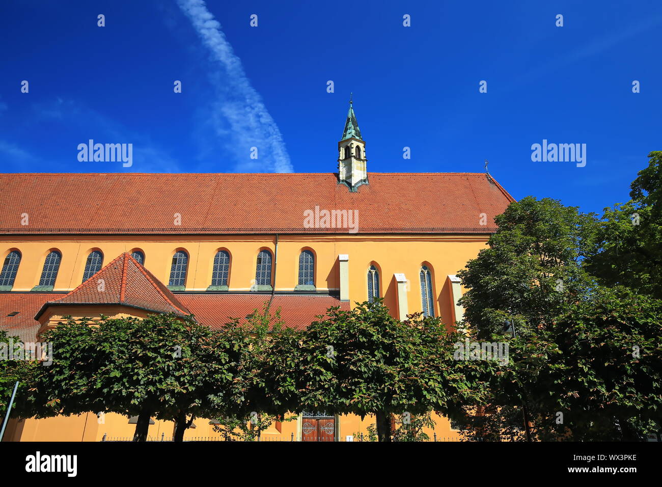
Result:
{"label": "low red tile roof strip between pointed roof and white buttresses", "polygon": [[[269,294],[179,294],[179,299],[186,305],[195,319],[211,329],[229,323],[231,318],[244,318],[256,309],[262,311],[268,302]],[[281,319],[285,326],[305,329],[315,321],[316,315],[326,315],[326,310],[333,306],[350,309],[350,303],[338,298],[323,295],[302,296],[297,294],[275,294],[269,311],[281,309]]]}

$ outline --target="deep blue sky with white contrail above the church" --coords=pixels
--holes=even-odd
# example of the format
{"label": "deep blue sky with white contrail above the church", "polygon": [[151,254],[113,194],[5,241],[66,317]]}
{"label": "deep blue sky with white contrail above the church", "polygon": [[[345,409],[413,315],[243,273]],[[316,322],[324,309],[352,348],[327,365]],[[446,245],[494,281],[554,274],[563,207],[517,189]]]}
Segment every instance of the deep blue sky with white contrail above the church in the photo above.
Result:
{"label": "deep blue sky with white contrail above the church", "polygon": [[[601,212],[662,150],[659,0],[191,1],[3,1],[1,171],[334,172],[350,91],[370,172],[487,158],[516,198]],[[89,139],[132,167],[79,162]],[[543,139],[586,166],[532,162]]]}

